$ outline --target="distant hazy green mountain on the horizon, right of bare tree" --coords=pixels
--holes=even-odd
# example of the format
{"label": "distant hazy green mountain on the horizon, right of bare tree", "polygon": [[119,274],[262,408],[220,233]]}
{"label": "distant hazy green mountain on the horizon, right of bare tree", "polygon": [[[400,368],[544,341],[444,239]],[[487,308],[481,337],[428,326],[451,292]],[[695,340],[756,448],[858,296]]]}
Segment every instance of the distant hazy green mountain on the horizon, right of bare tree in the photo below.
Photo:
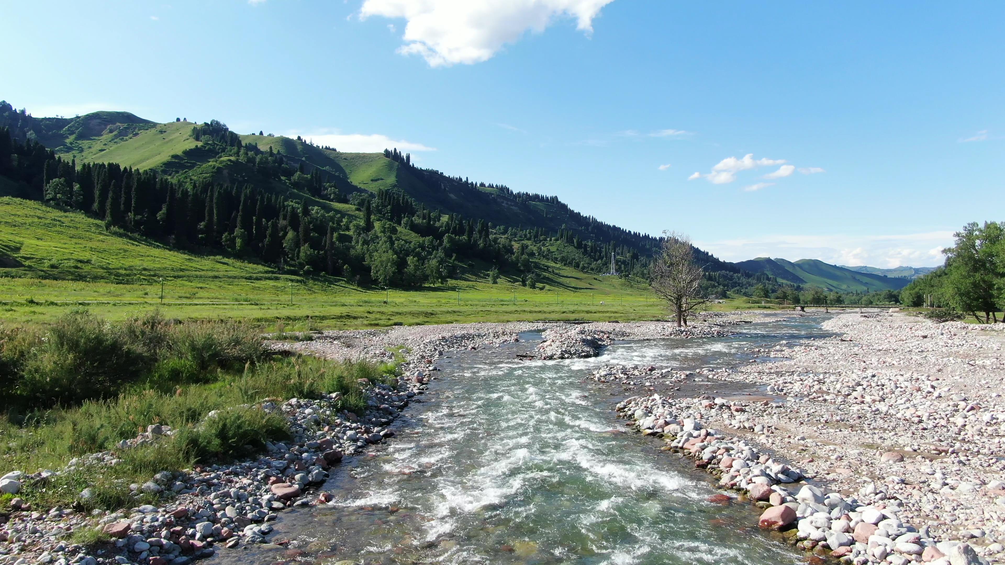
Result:
{"label": "distant hazy green mountain on the horizon, right of bare tree", "polygon": [[744,270],[770,274],[779,280],[792,285],[820,287],[828,291],[842,293],[896,291],[911,282],[908,278],[852,270],[818,259],[790,261],[780,258],[757,257],[736,264]]}

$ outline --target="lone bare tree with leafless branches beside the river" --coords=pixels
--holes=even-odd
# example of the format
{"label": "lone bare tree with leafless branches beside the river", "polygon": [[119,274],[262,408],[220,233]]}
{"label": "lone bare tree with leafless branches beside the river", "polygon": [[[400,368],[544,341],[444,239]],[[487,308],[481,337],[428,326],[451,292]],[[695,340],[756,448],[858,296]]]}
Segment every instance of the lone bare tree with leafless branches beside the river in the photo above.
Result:
{"label": "lone bare tree with leafless branches beside the river", "polygon": [[705,270],[694,264],[694,247],[686,235],[663,232],[663,242],[649,275],[649,286],[677,320],[687,326],[687,318],[712,299],[701,293]]}

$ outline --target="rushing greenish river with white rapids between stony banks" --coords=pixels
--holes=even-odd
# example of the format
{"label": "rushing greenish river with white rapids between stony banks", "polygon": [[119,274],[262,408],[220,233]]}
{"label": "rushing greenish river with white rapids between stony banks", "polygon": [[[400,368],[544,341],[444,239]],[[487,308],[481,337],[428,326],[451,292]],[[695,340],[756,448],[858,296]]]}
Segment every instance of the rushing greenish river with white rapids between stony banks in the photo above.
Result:
{"label": "rushing greenish river with white rapids between stony banks", "polygon": [[[540,340],[534,334],[452,354],[437,364],[430,392],[395,423],[395,438],[333,470],[325,487],[333,505],[280,515],[270,540],[289,540],[284,548],[246,547],[217,560],[800,561],[758,532],[752,507],[710,502],[717,491],[703,474],[659,450],[659,441],[619,430],[614,404],[645,391],[585,377],[612,363],[737,366],[755,359],[752,348],[825,336],[820,321],[777,317],[728,338],[620,343],[593,359],[516,359]],[[684,386],[724,395],[757,390],[700,380]]]}

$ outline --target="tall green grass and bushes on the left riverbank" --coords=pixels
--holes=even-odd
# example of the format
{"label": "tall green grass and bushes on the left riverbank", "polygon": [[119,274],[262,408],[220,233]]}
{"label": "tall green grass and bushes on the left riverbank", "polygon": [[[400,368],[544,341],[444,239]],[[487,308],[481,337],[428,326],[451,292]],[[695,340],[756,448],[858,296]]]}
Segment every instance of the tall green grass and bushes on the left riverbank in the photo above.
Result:
{"label": "tall green grass and bushes on the left riverbank", "polygon": [[[116,326],[73,313],[55,326],[0,332],[0,376],[14,377],[12,387],[7,378],[0,386],[17,400],[4,401],[13,409],[0,418],[0,468],[57,469],[102,451],[113,451],[120,462],[78,466],[26,486],[20,496],[40,508],[135,506],[142,497],[129,490],[132,483],[161,470],[247,457],[265,441],[287,438],[286,419],[256,407],[264,399],[341,392],[338,409],[362,413],[359,379],[382,382],[394,372],[366,362],[266,356],[260,338],[235,324],[179,325],[148,317]],[[57,360],[60,353],[69,360]],[[127,359],[136,367],[126,366]],[[72,378],[73,370],[87,371],[94,386],[88,388],[83,376]],[[50,395],[42,394],[43,385]],[[173,433],[118,447],[151,424]],[[84,488],[92,496],[80,501]]]}

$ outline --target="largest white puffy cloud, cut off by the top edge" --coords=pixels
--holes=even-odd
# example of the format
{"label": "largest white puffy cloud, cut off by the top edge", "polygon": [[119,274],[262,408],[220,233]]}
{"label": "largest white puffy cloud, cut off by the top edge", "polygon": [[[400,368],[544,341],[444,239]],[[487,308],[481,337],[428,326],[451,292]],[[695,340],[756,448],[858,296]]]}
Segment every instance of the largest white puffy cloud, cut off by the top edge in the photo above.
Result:
{"label": "largest white puffy cloud, cut off by the top edge", "polygon": [[541,33],[556,18],[576,20],[590,34],[593,18],[614,0],[365,0],[360,19],[404,18],[405,44],[430,66],[473,64],[491,58],[528,30]]}

